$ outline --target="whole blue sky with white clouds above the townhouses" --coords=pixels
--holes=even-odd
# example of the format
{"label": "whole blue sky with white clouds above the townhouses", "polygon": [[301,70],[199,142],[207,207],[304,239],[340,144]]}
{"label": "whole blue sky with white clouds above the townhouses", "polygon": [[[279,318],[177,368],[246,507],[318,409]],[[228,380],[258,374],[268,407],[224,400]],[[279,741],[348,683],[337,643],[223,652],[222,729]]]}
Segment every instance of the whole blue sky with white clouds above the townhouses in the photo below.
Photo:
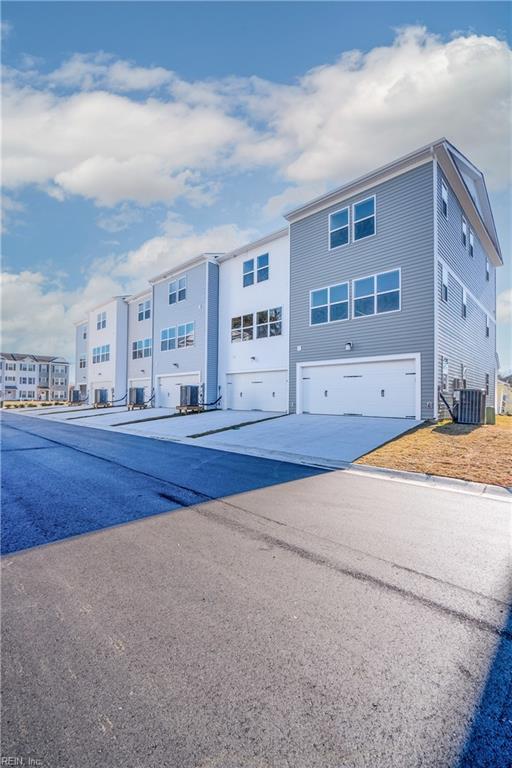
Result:
{"label": "whole blue sky with white clouds above the townhouses", "polygon": [[505,2],[4,2],[5,351],[446,136],[486,176],[512,369]]}

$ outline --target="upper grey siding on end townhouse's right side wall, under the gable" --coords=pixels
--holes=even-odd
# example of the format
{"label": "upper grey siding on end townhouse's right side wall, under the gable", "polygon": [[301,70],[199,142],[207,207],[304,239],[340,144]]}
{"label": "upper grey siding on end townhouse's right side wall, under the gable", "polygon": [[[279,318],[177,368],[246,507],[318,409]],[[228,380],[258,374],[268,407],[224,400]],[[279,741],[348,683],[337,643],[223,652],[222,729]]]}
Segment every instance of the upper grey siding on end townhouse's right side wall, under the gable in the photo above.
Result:
{"label": "upper grey siding on end townhouse's right side wall, under the gable", "polygon": [[[441,207],[441,183],[444,181],[448,190],[448,218]],[[437,182],[437,222],[438,222],[438,255],[443,259],[455,275],[464,283],[466,288],[476,296],[484,307],[494,313],[496,309],[496,268],[490,264],[489,280],[485,279],[486,253],[476,236],[475,254],[469,255],[469,221],[468,244],[462,244],[463,209],[454,195],[450,185],[441,171]],[[466,221],[467,215],[465,216]]]}

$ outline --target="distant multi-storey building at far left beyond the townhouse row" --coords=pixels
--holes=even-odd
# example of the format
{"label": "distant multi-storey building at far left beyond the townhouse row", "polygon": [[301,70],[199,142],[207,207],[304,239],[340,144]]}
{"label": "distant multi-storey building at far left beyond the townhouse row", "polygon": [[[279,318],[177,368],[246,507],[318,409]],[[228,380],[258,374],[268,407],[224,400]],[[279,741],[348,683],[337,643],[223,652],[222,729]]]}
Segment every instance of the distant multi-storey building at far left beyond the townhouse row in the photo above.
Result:
{"label": "distant multi-storey building at far left beyond the townhouse row", "polygon": [[51,355],[0,353],[2,400],[67,400],[69,363]]}

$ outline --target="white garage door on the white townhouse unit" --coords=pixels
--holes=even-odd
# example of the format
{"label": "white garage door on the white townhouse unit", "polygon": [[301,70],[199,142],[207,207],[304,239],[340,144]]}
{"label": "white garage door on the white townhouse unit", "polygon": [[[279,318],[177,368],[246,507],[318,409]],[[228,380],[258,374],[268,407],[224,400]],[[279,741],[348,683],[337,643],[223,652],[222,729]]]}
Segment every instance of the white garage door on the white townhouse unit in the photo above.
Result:
{"label": "white garage door on the white townhouse unit", "polygon": [[226,385],[226,407],[233,411],[288,410],[286,371],[230,373]]}

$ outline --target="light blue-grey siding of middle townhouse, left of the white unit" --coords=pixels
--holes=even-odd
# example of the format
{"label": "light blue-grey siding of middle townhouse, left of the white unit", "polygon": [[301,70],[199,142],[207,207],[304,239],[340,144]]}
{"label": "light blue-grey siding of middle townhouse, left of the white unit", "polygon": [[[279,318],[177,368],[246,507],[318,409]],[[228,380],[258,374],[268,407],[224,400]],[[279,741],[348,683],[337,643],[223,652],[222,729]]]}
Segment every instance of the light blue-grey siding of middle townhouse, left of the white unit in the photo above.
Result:
{"label": "light blue-grey siding of middle townhouse, left of the white unit", "polygon": [[[187,276],[187,297],[184,301],[169,304],[169,283]],[[158,387],[157,376],[162,374],[186,374],[196,371],[200,374],[202,396],[206,378],[206,299],[207,262],[198,264],[183,272],[176,272],[170,278],[156,283],[153,292],[154,340],[153,340],[153,386]],[[194,323],[194,346],[162,352],[160,332],[163,328]],[[177,364],[174,365],[174,363]],[[216,383],[215,383],[216,386]]]}

